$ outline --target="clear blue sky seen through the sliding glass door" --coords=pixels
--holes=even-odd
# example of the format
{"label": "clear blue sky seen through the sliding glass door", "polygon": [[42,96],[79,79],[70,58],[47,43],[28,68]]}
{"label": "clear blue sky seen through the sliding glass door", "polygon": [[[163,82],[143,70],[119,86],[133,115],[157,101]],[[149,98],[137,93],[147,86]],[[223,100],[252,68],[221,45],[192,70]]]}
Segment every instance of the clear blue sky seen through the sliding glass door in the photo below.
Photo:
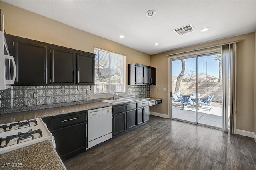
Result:
{"label": "clear blue sky seen through the sliding glass door", "polygon": [[[219,77],[219,62],[214,61],[218,54],[210,56],[198,57],[198,74],[206,74],[206,60],[207,60],[207,74]],[[172,76],[179,76],[182,69],[180,60],[172,61]],[[196,69],[196,57],[185,59],[185,73],[189,70]]]}

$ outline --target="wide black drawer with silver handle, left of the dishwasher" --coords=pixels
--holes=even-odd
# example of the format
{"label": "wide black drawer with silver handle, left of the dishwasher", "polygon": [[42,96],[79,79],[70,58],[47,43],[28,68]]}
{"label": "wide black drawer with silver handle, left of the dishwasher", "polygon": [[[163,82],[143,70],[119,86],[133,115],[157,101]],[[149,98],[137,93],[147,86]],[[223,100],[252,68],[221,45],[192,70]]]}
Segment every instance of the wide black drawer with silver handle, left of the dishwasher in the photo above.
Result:
{"label": "wide black drawer with silver handle, left of the dishwasher", "polygon": [[74,114],[72,116],[64,116],[61,118],[55,118],[49,120],[49,129],[54,130],[66,126],[70,126],[73,124],[78,124],[80,122],[86,121],[86,113]]}

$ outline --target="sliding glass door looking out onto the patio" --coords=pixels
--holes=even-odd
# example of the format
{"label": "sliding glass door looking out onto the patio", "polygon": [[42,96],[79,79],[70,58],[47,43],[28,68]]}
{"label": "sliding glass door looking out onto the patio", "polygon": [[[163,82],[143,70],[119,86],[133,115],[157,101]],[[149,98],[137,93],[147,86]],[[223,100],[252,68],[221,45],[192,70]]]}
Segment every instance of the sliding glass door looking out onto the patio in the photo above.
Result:
{"label": "sliding glass door looking out onto the patio", "polygon": [[222,129],[220,53],[170,62],[171,118]]}

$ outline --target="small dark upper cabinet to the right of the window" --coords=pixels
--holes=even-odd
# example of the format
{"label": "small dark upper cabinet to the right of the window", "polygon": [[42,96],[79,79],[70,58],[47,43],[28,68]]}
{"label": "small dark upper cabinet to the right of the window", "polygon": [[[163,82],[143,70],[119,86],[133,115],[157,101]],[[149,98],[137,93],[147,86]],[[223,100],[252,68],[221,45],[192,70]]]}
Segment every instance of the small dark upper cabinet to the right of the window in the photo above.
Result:
{"label": "small dark upper cabinet to the right of the window", "polygon": [[[152,72],[152,74],[151,74]],[[156,68],[142,64],[128,64],[129,85],[156,85]]]}

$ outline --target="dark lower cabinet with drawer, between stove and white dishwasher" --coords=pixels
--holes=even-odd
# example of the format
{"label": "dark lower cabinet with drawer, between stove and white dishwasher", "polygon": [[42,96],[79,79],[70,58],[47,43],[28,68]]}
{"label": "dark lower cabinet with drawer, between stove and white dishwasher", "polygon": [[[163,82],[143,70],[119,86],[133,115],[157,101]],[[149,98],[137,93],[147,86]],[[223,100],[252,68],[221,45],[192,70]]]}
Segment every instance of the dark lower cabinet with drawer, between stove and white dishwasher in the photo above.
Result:
{"label": "dark lower cabinet with drawer, between stove and white dishwasher", "polygon": [[72,158],[86,150],[86,114],[86,111],[81,111],[42,118],[54,136],[56,151],[62,160]]}

